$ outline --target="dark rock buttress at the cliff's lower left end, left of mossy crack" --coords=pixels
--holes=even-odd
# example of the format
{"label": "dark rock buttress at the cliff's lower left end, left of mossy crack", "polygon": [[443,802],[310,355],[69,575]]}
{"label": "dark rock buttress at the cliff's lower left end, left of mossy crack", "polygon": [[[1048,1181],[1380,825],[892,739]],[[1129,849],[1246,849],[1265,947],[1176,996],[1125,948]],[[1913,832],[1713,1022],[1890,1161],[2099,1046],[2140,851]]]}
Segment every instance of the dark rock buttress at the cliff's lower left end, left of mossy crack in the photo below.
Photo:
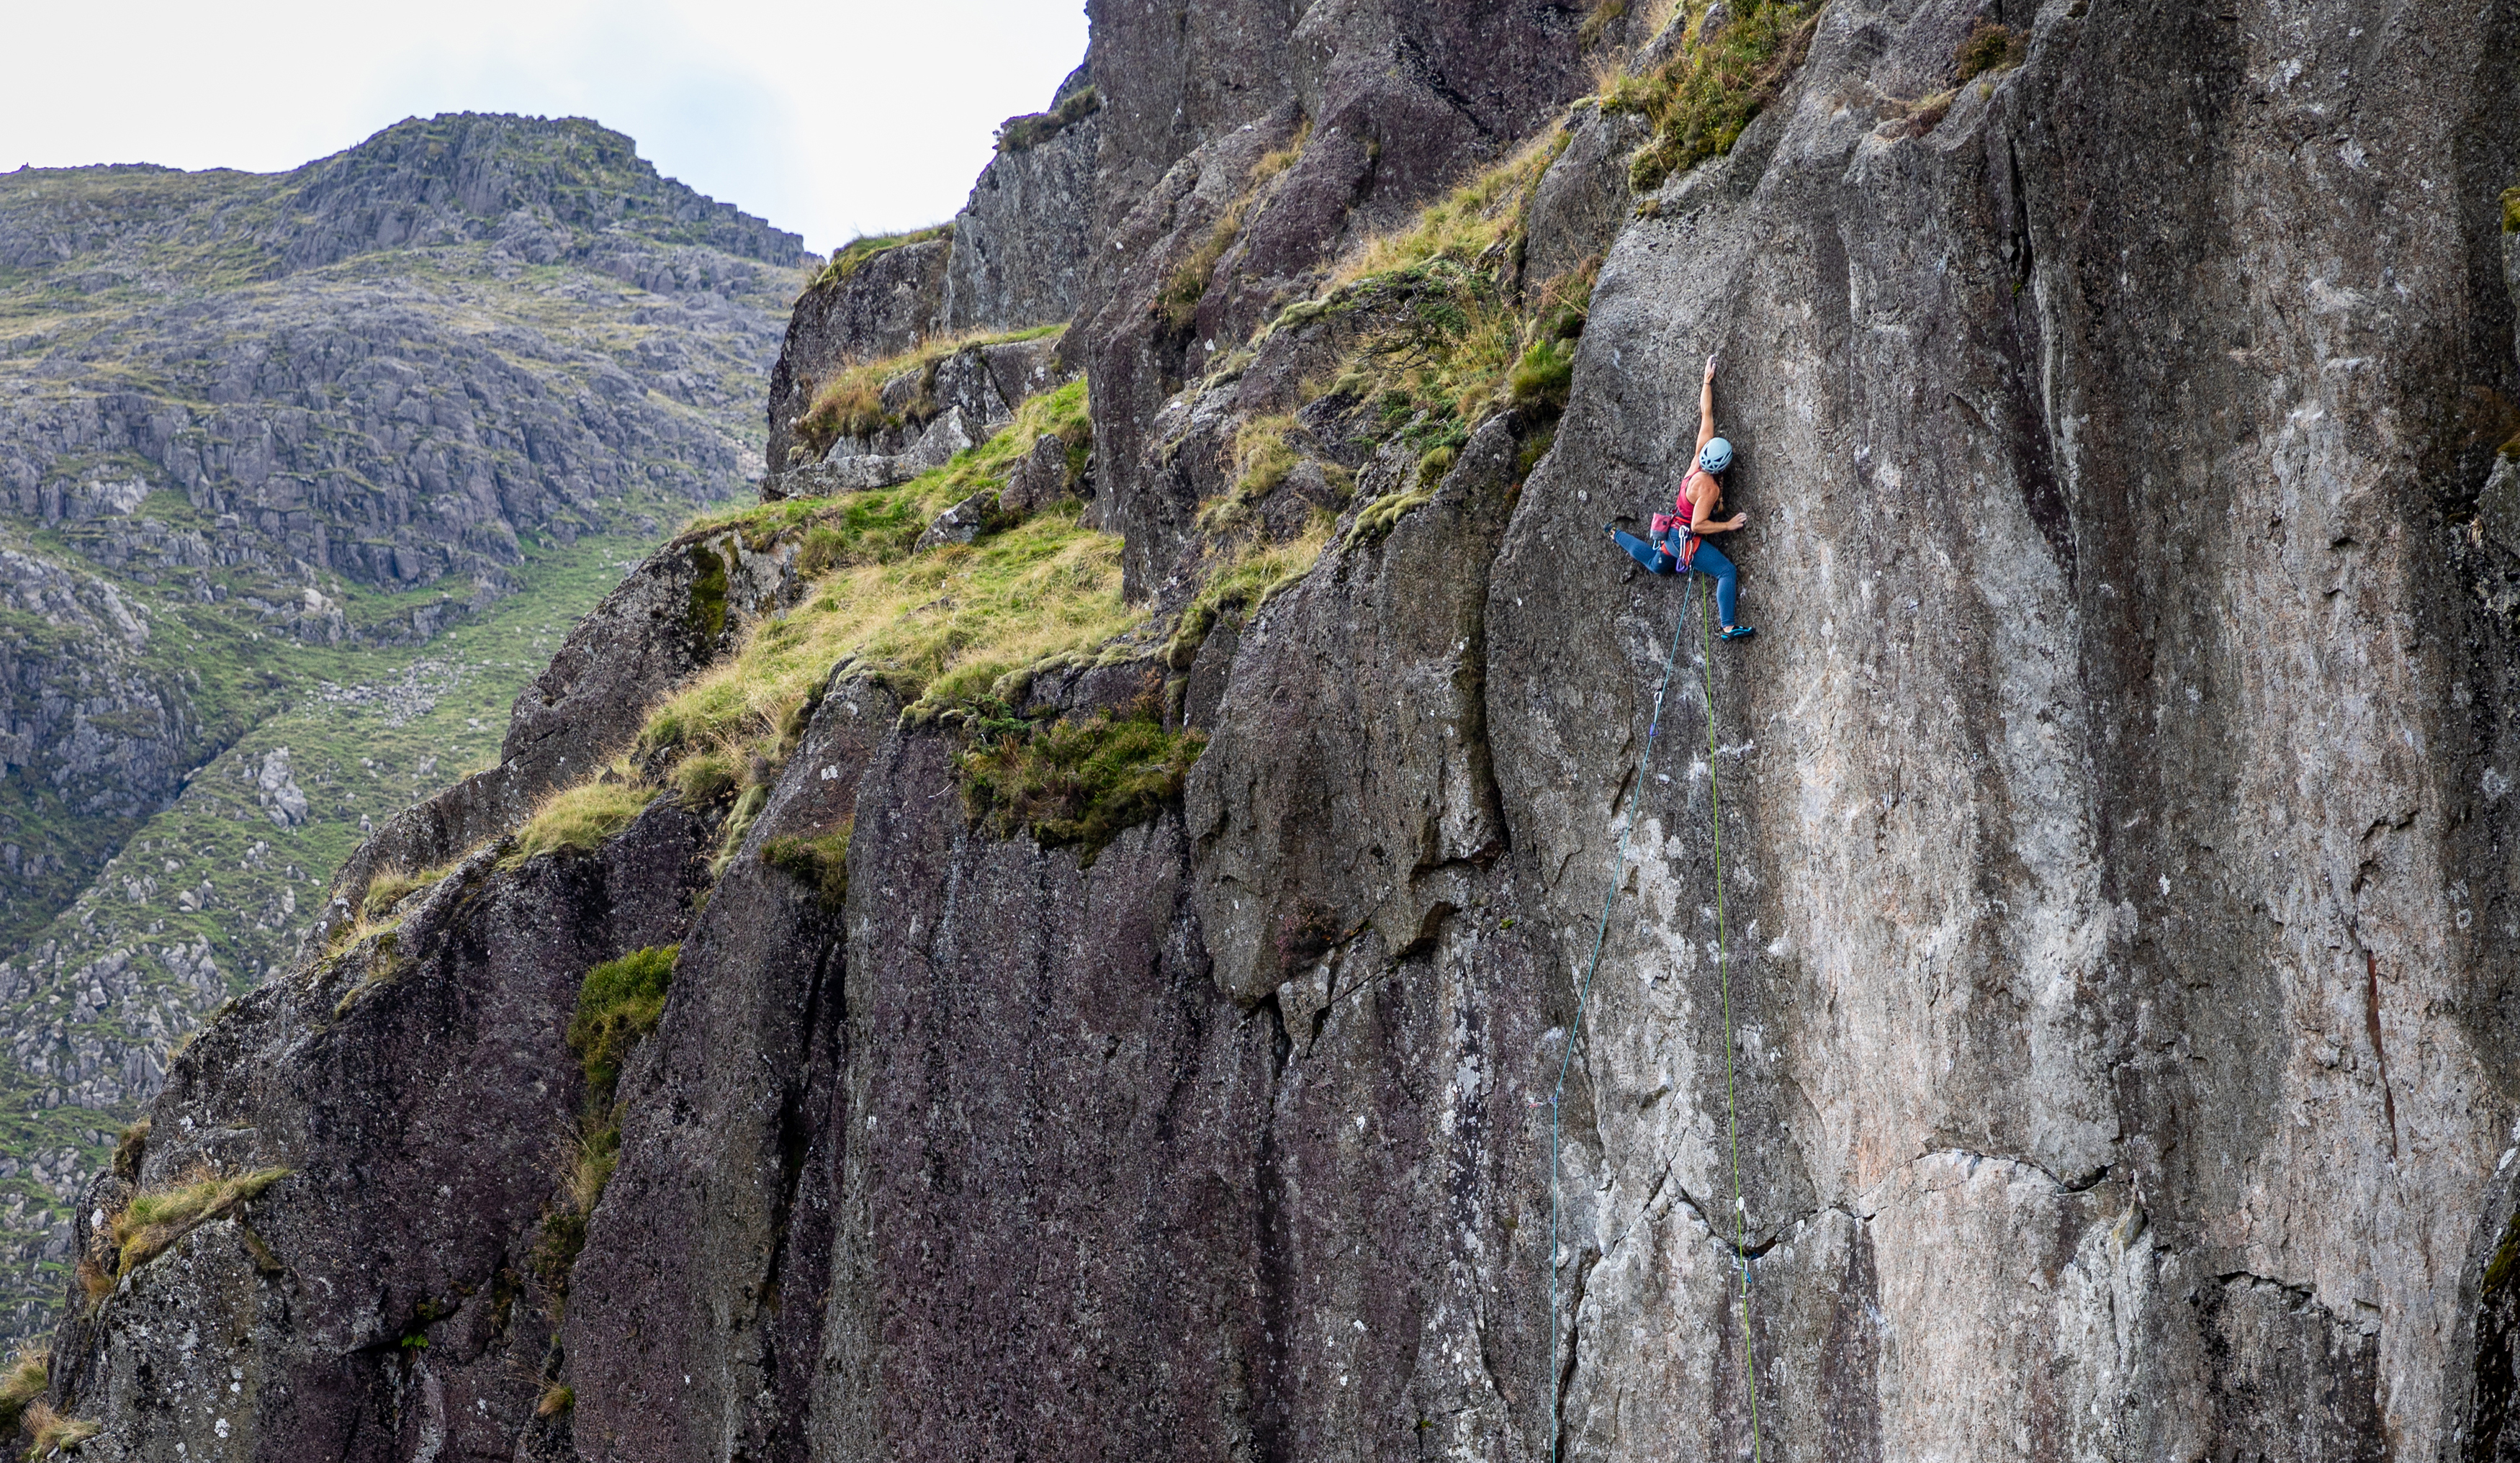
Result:
{"label": "dark rock buttress at the cliff's lower left end, left of mossy crack", "polygon": [[[481,851],[428,894],[411,939],[265,985],[186,1053],[161,1100],[197,1121],[151,1138],[136,1183],[204,1163],[290,1176],[154,1259],[151,1299],[68,1322],[55,1377],[164,1410],[118,1443],[129,1455],[217,1455],[270,1408],[307,1458],[507,1455],[534,1428],[552,1322],[532,1251],[554,1136],[580,1108],[559,1032],[577,972],[680,939],[706,833],[660,803],[597,856],[504,869]],[[333,1189],[375,1204],[290,1201]],[[161,1347],[204,1327],[249,1337],[252,1372],[169,1370]]]}

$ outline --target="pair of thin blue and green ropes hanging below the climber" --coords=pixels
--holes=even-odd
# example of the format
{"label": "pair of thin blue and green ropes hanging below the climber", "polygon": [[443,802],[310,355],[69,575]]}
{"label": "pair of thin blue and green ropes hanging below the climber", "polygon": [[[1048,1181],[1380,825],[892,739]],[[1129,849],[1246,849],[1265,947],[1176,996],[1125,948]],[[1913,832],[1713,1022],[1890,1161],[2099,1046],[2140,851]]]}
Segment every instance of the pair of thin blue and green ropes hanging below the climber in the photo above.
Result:
{"label": "pair of thin blue and green ropes hanging below the climber", "polygon": [[1759,1367],[1749,1342],[1749,1206],[1741,1201],[1741,1121],[1734,1105],[1734,1030],[1731,1030],[1731,962],[1724,944],[1724,803],[1716,793],[1716,680],[1714,637],[1706,627],[1706,607],[1698,604],[1698,582],[1688,577],[1681,597],[1681,614],[1671,624],[1671,652],[1663,655],[1663,680],[1653,687],[1653,715],[1646,720],[1646,750],[1635,763],[1635,791],[1628,796],[1628,821],[1618,831],[1618,856],[1610,864],[1610,891],[1600,901],[1600,924],[1593,929],[1593,959],[1585,962],[1583,985],[1575,990],[1575,1020],[1567,1025],[1565,1055],[1557,1058],[1557,1085],[1550,1088],[1550,1450],[1545,1463],[1557,1463],[1557,1216],[1560,1216],[1560,1131],[1565,1118],[1567,1070],[1575,1065],[1575,1035],[1583,1032],[1583,1012],[1593,1000],[1593,974],[1600,969],[1600,952],[1610,937],[1610,907],[1618,904],[1618,886],[1628,879],[1628,836],[1635,831],[1638,806],[1646,801],[1646,773],[1653,768],[1653,738],[1663,730],[1663,695],[1671,692],[1671,667],[1681,660],[1681,632],[1688,627],[1688,609],[1698,612],[1698,672],[1706,705],[1706,801],[1714,823],[1716,856],[1716,974],[1724,982],[1724,1133],[1731,1141],[1734,1178],[1734,1259],[1741,1262],[1741,1375],[1749,1380],[1749,1445],[1751,1463],[1764,1463],[1759,1440]]}

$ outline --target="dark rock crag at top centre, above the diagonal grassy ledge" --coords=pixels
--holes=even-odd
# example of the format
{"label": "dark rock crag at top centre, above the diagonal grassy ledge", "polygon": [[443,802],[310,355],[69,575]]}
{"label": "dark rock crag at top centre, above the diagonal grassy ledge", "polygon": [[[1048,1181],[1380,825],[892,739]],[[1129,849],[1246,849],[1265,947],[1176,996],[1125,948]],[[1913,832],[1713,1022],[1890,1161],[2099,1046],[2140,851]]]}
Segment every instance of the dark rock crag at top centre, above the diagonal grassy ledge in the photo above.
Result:
{"label": "dark rock crag at top centre, above the diagonal grassy ledge", "polygon": [[[1197,506],[1159,486],[1147,423],[1162,403],[1303,297],[1343,247],[1399,224],[1583,91],[1575,18],[1545,5],[1200,5],[1177,23],[1217,33],[1212,55],[1182,53],[1200,58],[1187,78],[1172,71],[1179,58],[1137,50],[1162,40],[1134,13],[1096,30],[1094,76],[1114,78],[1099,186],[1116,247],[1094,249],[1089,325],[1068,345],[1091,368],[1111,478],[1104,526],[1129,536],[1131,592],[1164,579]],[[1164,98],[1182,86],[1179,111],[1152,126],[1121,78]],[[1263,159],[1305,123],[1303,154],[1263,179]],[[1227,219],[1232,242],[1202,254]],[[1159,310],[1167,292],[1187,307]]]}

